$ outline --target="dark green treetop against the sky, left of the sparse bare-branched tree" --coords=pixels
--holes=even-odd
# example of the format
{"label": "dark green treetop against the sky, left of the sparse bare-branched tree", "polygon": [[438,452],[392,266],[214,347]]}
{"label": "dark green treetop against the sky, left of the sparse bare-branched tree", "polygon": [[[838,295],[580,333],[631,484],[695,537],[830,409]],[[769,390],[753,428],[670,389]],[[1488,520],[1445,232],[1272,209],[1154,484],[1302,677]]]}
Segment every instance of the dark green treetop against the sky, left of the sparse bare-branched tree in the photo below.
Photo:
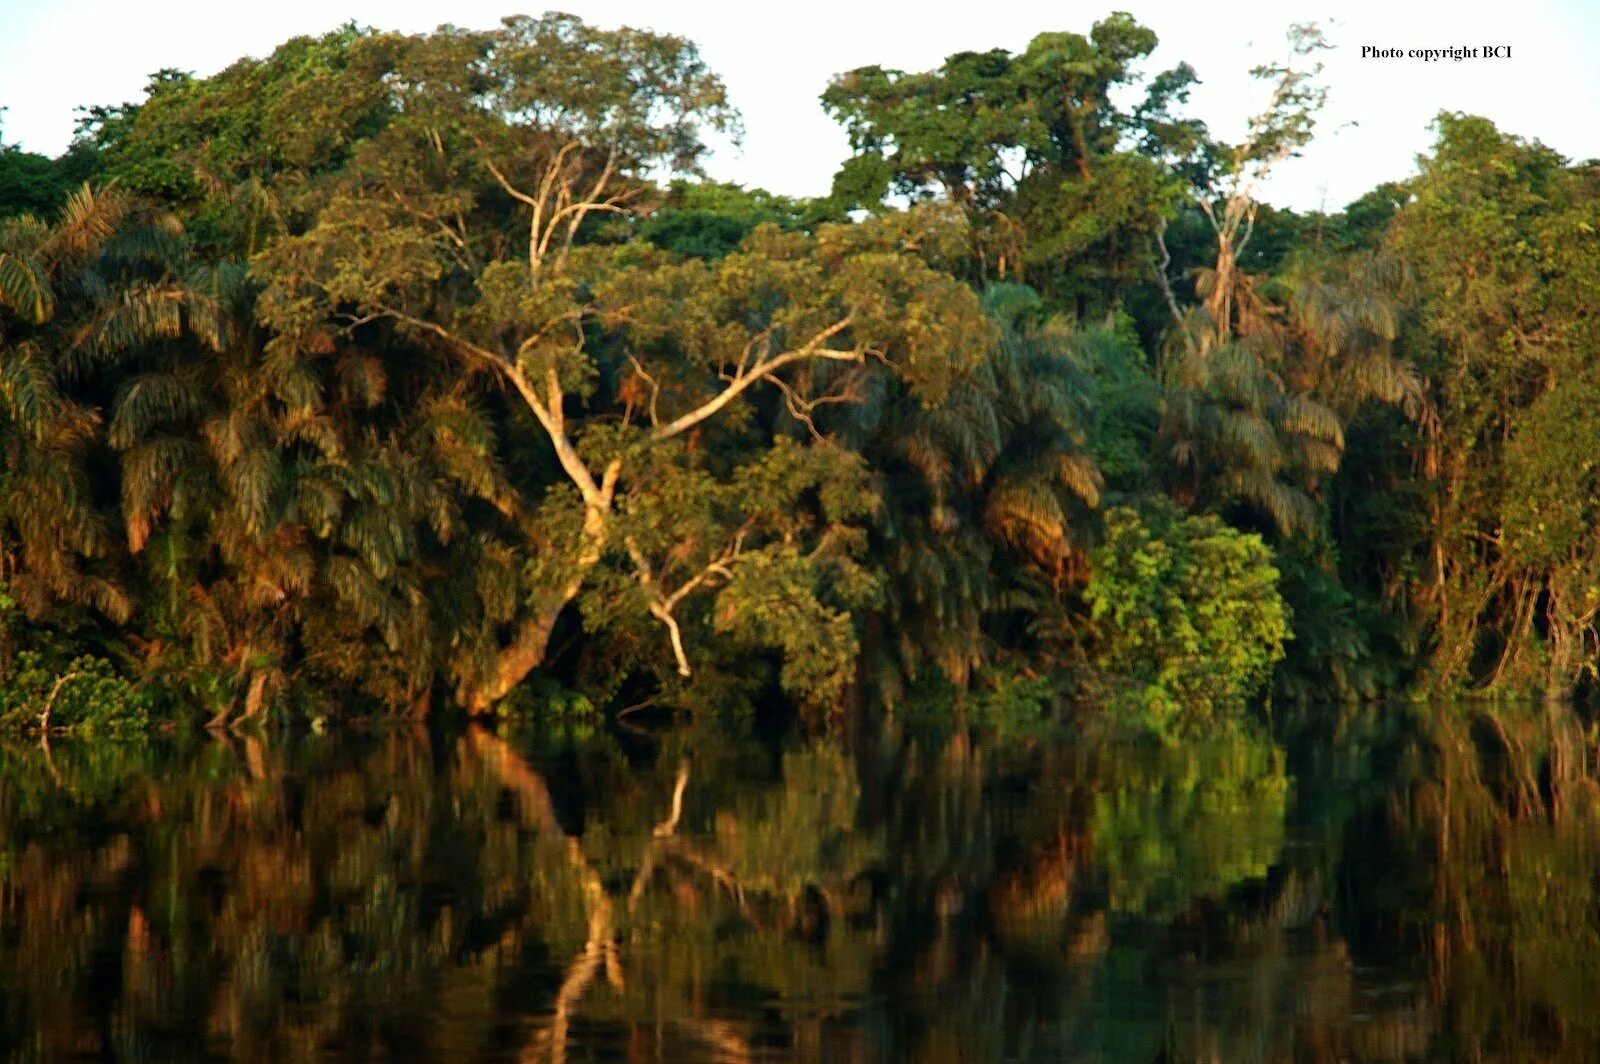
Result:
{"label": "dark green treetop against the sky, left of the sparse bare-branched tree", "polygon": [[1178,198],[1152,157],[1186,152],[1203,131],[1173,115],[1194,82],[1187,66],[1155,75],[1142,102],[1122,102],[1155,43],[1117,13],[1086,37],[1040,34],[1018,54],[963,51],[934,70],[842,74],[822,106],[854,155],[834,198],[878,208],[890,194],[942,195],[973,221],[979,277],[1109,306]]}

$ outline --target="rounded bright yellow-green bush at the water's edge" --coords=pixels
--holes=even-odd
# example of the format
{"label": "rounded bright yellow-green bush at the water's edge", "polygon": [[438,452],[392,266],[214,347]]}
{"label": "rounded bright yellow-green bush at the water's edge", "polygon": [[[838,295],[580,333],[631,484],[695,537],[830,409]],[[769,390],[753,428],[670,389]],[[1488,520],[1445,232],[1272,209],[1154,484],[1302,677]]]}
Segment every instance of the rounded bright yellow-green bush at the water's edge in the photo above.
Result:
{"label": "rounded bright yellow-green bush at the water's edge", "polygon": [[1170,504],[1114,507],[1104,536],[1085,598],[1115,717],[1165,734],[1240,720],[1290,638],[1272,550]]}

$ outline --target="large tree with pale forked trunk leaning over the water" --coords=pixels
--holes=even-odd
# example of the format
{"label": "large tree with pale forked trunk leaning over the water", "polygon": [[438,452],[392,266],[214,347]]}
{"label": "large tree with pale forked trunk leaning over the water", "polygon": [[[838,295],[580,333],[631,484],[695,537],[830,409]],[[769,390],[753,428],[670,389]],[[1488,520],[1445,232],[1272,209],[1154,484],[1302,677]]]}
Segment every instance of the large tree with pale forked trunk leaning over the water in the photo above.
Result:
{"label": "large tree with pale forked trunk leaning over the water", "polygon": [[[661,486],[664,454],[690,461],[706,422],[736,414],[755,386],[798,410],[848,394],[869,362],[938,387],[970,358],[987,342],[976,299],[909,251],[947,242],[947,224],[757,230],[717,262],[586,246],[586,224],[634,211],[654,170],[693,171],[701,131],[731,122],[678,38],[512,19],[410,42],[392,83],[400,114],[326,182],[314,224],[256,258],[269,349],[298,357],[328,328],[435,346],[531,416],[558,486],[539,502],[506,645],[462,678],[470,707],[544,661],[557,619],[608,560],[646,589],[688,672],[674,597],[731,578],[714,566],[669,590],[664,560],[618,522]],[[499,221],[475,221],[496,197]],[[734,573],[733,560],[720,550],[706,565]]]}

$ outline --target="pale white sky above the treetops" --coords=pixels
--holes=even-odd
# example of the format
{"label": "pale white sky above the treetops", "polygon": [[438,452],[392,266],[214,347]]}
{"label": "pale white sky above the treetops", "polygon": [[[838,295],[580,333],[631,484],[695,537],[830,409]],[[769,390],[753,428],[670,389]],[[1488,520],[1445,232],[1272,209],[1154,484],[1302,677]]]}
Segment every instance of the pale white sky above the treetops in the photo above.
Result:
{"label": "pale white sky above the treetops", "polygon": [[[301,34],[355,21],[429,30],[488,27],[517,0],[0,0],[0,139],[56,154],[75,109],[138,99],[154,70],[214,74]],[[821,109],[829,78],[858,66],[938,66],[954,51],[1018,51],[1045,30],[1088,32],[1126,10],[1157,32],[1147,72],[1187,61],[1200,75],[1190,112],[1237,136],[1259,110],[1248,70],[1283,56],[1283,30],[1317,21],[1328,107],[1317,141],[1264,189],[1298,210],[1338,210],[1381,181],[1414,173],[1440,110],[1486,115],[1502,130],[1576,158],[1600,157],[1600,0],[1421,3],[1419,0],[544,0],[598,26],[630,24],[696,40],[744,115],[738,149],[710,173],[789,195],[821,195],[848,154]],[[1424,62],[1362,58],[1362,46],[1509,46],[1510,58]]]}

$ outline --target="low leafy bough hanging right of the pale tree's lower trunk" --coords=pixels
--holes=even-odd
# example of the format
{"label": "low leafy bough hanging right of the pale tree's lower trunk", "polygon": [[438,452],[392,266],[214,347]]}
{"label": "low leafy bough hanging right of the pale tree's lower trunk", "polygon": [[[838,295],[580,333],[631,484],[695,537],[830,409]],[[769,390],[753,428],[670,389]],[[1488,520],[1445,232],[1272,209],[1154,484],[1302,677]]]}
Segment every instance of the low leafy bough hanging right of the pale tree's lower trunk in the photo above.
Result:
{"label": "low leafy bough hanging right of the pale tree's lower trunk", "polygon": [[[779,438],[726,477],[675,446],[632,469],[611,558],[581,598],[592,637],[670,618],[691,669],[728,650],[776,650],[784,688],[829,704],[854,667],[853,611],[877,587],[861,560],[858,525],[875,507],[861,459]],[[666,651],[667,635],[648,638]]]}

